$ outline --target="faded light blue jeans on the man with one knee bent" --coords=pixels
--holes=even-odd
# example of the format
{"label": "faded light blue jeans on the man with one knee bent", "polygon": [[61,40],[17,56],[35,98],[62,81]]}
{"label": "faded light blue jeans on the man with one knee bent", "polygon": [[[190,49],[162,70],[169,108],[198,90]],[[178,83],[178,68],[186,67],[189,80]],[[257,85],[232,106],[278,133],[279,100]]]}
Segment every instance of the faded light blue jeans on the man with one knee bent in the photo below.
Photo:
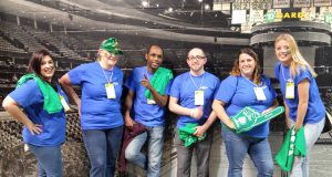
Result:
{"label": "faded light blue jeans on the man with one knee bent", "polygon": [[[164,126],[146,126],[146,133],[137,135],[127,146],[125,158],[147,169],[148,177],[158,177],[164,146]],[[147,157],[142,154],[142,147],[147,140]]]}

